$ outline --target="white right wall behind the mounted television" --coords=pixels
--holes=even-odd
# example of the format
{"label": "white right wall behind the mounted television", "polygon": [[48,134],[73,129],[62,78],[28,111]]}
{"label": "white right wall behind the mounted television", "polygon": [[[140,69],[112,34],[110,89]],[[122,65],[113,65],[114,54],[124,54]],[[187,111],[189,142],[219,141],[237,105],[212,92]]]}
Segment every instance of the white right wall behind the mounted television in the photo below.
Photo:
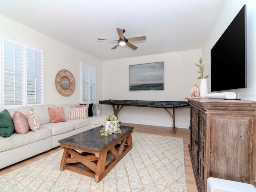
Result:
{"label": "white right wall behind the mounted television", "polygon": [[[242,100],[256,100],[256,0],[224,0],[208,38],[202,47],[202,57],[206,69],[210,69],[210,50],[232,22],[241,8],[246,4],[247,11],[247,88],[231,90],[239,93]],[[221,81],[221,79],[220,79]],[[208,91],[210,91],[208,78]]]}

